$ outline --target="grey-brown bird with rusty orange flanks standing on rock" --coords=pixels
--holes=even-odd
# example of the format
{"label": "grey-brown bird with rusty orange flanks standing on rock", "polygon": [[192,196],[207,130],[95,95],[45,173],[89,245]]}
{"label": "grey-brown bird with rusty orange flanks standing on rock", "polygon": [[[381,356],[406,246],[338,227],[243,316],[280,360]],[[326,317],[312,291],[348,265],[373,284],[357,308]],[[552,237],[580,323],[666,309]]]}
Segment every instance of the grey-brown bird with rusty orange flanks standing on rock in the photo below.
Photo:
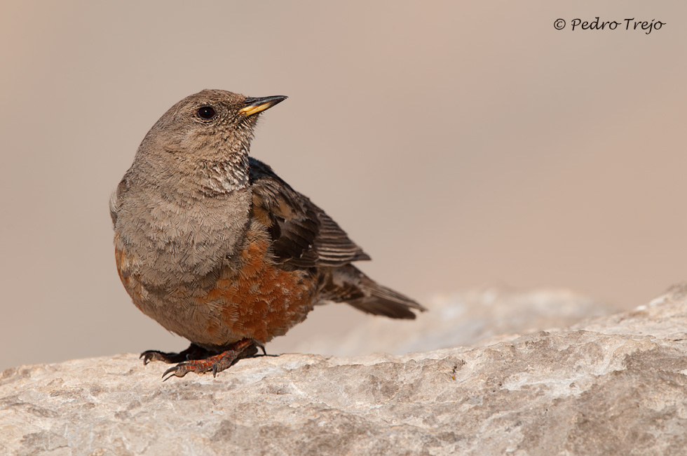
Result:
{"label": "grey-brown bird with rusty orange flanks standing on rock", "polygon": [[418,302],[353,263],[370,260],[339,224],[249,156],[261,114],[285,96],[202,90],[145,135],[109,201],[116,267],[132,302],[191,342],[144,364],[217,375],[304,321],[317,304],[415,318]]}

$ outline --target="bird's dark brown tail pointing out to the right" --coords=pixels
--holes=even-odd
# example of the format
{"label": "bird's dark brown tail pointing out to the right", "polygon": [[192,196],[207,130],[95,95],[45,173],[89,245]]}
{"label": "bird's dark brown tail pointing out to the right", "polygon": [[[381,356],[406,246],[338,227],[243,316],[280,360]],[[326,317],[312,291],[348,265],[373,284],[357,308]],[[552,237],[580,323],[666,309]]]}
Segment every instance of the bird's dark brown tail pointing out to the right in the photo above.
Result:
{"label": "bird's dark brown tail pointing out to the right", "polygon": [[352,264],[322,271],[320,297],[332,302],[346,302],[368,314],[389,318],[415,318],[411,309],[427,309],[391,288],[379,285]]}

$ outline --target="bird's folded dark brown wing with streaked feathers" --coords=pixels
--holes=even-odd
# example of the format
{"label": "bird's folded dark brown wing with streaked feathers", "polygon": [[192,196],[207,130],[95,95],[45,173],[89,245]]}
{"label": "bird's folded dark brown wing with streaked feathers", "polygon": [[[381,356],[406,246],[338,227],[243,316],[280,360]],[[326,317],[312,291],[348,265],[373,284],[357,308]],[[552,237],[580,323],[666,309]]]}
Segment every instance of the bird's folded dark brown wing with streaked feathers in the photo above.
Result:
{"label": "bird's folded dark brown wing with streaked feathers", "polygon": [[324,210],[253,158],[250,183],[252,214],[268,227],[278,262],[292,267],[336,267],[370,259]]}

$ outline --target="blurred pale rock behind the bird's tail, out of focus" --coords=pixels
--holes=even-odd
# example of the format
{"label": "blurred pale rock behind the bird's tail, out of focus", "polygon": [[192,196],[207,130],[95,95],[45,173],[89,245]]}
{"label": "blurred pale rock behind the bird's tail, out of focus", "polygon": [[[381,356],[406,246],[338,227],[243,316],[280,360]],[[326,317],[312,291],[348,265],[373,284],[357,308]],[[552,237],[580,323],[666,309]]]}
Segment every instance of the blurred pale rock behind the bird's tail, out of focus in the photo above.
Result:
{"label": "blurred pale rock behind the bird's tail, out of focus", "polygon": [[301,330],[297,326],[287,337],[269,344],[268,350],[334,356],[360,356],[370,351],[404,354],[474,345],[501,334],[564,328],[590,316],[618,311],[569,290],[505,288],[437,296],[427,307],[430,311],[418,314],[416,320],[365,316],[341,337],[297,337]]}

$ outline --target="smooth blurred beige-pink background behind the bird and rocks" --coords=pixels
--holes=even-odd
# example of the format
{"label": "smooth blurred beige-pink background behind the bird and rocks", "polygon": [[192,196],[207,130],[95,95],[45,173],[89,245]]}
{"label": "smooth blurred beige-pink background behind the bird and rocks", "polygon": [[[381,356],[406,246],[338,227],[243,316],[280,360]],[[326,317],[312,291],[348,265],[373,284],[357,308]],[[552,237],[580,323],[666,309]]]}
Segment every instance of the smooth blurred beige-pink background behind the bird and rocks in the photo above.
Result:
{"label": "smooth blurred beige-pink background behind the bird and rocks", "polygon": [[[252,153],[424,302],[495,284],[632,307],[687,278],[684,1],[1,10],[0,368],[186,346],[119,283],[107,202],[150,126],[203,88],[289,95]],[[553,27],[597,15],[667,25]],[[358,318],[318,309],[285,339]]]}

